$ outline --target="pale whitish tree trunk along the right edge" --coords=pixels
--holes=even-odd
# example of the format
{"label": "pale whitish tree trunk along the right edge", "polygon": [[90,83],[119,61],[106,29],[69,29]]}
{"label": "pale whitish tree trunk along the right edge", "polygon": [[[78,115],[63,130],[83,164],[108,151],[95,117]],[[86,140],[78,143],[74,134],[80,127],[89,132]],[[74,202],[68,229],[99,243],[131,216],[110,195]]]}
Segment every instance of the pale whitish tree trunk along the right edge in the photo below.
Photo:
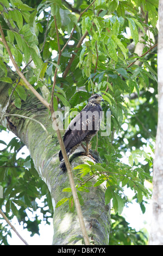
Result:
{"label": "pale whitish tree trunk along the right edge", "polygon": [[150,245],[163,245],[163,3],[159,2],[158,38],[158,128],[156,133],[155,159],[153,170],[153,217],[149,239]]}

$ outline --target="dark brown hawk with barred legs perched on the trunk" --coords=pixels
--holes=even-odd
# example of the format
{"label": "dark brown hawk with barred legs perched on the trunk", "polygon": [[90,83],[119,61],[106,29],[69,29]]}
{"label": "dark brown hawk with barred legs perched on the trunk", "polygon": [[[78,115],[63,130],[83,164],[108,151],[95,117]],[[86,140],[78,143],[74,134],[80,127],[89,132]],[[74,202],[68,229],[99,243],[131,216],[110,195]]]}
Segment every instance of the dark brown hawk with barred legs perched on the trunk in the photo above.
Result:
{"label": "dark brown hawk with barred legs perched on the trunk", "polygon": [[[101,101],[104,100],[100,94],[93,94],[87,105],[75,118],[73,118],[70,125],[68,125],[64,135],[67,156],[70,156],[79,145],[82,145],[86,151],[86,155],[89,155],[89,143],[93,136],[96,135],[101,124]],[[86,148],[84,147],[83,142],[86,142]],[[65,163],[63,164],[64,159],[61,150],[59,151],[59,160],[61,162],[60,168],[64,169],[62,167]]]}

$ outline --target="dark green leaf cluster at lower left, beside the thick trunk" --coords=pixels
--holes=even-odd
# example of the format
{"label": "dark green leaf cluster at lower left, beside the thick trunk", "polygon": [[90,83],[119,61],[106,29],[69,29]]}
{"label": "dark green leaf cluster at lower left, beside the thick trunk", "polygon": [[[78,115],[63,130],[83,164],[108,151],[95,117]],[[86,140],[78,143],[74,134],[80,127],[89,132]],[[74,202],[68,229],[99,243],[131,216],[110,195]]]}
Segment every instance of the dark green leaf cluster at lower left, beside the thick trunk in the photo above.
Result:
{"label": "dark green leaf cluster at lower left, beside the thick trunk", "polygon": [[[6,146],[0,153],[0,182],[3,187],[1,208],[10,220],[16,216],[31,236],[39,234],[41,221],[49,223],[48,218],[52,216],[52,202],[47,185],[36,172],[30,156],[17,159],[18,152],[24,146],[19,139],[12,138],[8,145],[3,141],[0,143]],[[36,198],[42,201],[42,206]],[[42,218],[36,213],[37,209],[40,209]],[[33,219],[30,218],[28,210],[33,213]],[[6,234],[11,236],[11,233],[7,223],[2,220],[1,217],[0,241],[1,244],[7,245]]]}

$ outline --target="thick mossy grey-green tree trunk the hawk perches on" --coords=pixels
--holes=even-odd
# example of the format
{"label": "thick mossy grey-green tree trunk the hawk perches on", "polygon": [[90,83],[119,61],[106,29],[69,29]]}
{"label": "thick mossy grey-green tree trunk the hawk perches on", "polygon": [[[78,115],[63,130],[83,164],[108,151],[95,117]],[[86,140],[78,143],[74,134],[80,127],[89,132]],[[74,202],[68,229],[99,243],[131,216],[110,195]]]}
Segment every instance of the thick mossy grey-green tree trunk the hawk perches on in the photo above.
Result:
{"label": "thick mossy grey-green tree trunk the hawk perches on", "polygon": [[[8,76],[14,76],[10,71]],[[0,115],[7,105],[9,96],[9,84],[0,82]],[[40,121],[47,129],[42,129],[41,125],[31,119],[24,119],[15,116],[4,117],[2,124],[15,133],[21,141],[27,145],[30,155],[35,164],[37,172],[43,181],[46,182],[52,196],[53,208],[55,204],[67,193],[62,192],[65,187],[70,187],[67,173],[59,169],[58,153],[60,146],[56,132],[52,128],[52,121],[47,109],[36,97],[27,90],[27,100],[22,101],[21,109],[17,109],[11,101],[7,113],[19,114]],[[89,157],[80,156],[72,161],[72,166],[90,160]],[[74,176],[78,170],[73,171]],[[74,179],[75,180],[75,179]],[[89,193],[83,192],[84,205],[82,211],[85,225],[90,240],[95,245],[108,245],[110,213],[109,206],[105,206],[103,186],[91,187]],[[77,212],[70,212],[68,205],[61,205],[54,211],[54,237],[53,245],[71,245],[82,243],[82,231],[80,230]]]}

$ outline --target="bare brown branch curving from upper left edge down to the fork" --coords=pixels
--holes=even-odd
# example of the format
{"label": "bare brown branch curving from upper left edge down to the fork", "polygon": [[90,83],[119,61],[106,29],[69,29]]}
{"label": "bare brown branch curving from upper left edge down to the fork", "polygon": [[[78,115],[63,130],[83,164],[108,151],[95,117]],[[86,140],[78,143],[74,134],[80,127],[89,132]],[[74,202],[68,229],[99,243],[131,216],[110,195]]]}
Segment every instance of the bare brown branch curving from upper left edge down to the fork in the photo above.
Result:
{"label": "bare brown branch curving from upper left edge down to the fork", "polygon": [[5,40],[5,36],[4,36],[3,30],[2,30],[1,24],[0,24],[0,33],[1,33],[1,36],[2,36],[2,39],[0,38],[0,41],[3,42],[5,48],[6,48],[8,54],[10,56],[12,64],[14,65],[14,67],[16,69],[17,74],[22,78],[24,83],[26,83],[28,88],[33,92],[33,94],[37,97],[37,99],[39,99],[43,103],[43,105],[45,105],[49,109],[49,103],[45,99],[43,99],[43,97],[39,93],[37,93],[37,91],[34,89],[34,87],[27,81],[26,77],[23,75],[23,73],[18,68],[18,66],[17,66],[17,64],[15,62],[15,59],[12,56],[12,53],[11,53],[10,48],[8,46],[8,43]]}

